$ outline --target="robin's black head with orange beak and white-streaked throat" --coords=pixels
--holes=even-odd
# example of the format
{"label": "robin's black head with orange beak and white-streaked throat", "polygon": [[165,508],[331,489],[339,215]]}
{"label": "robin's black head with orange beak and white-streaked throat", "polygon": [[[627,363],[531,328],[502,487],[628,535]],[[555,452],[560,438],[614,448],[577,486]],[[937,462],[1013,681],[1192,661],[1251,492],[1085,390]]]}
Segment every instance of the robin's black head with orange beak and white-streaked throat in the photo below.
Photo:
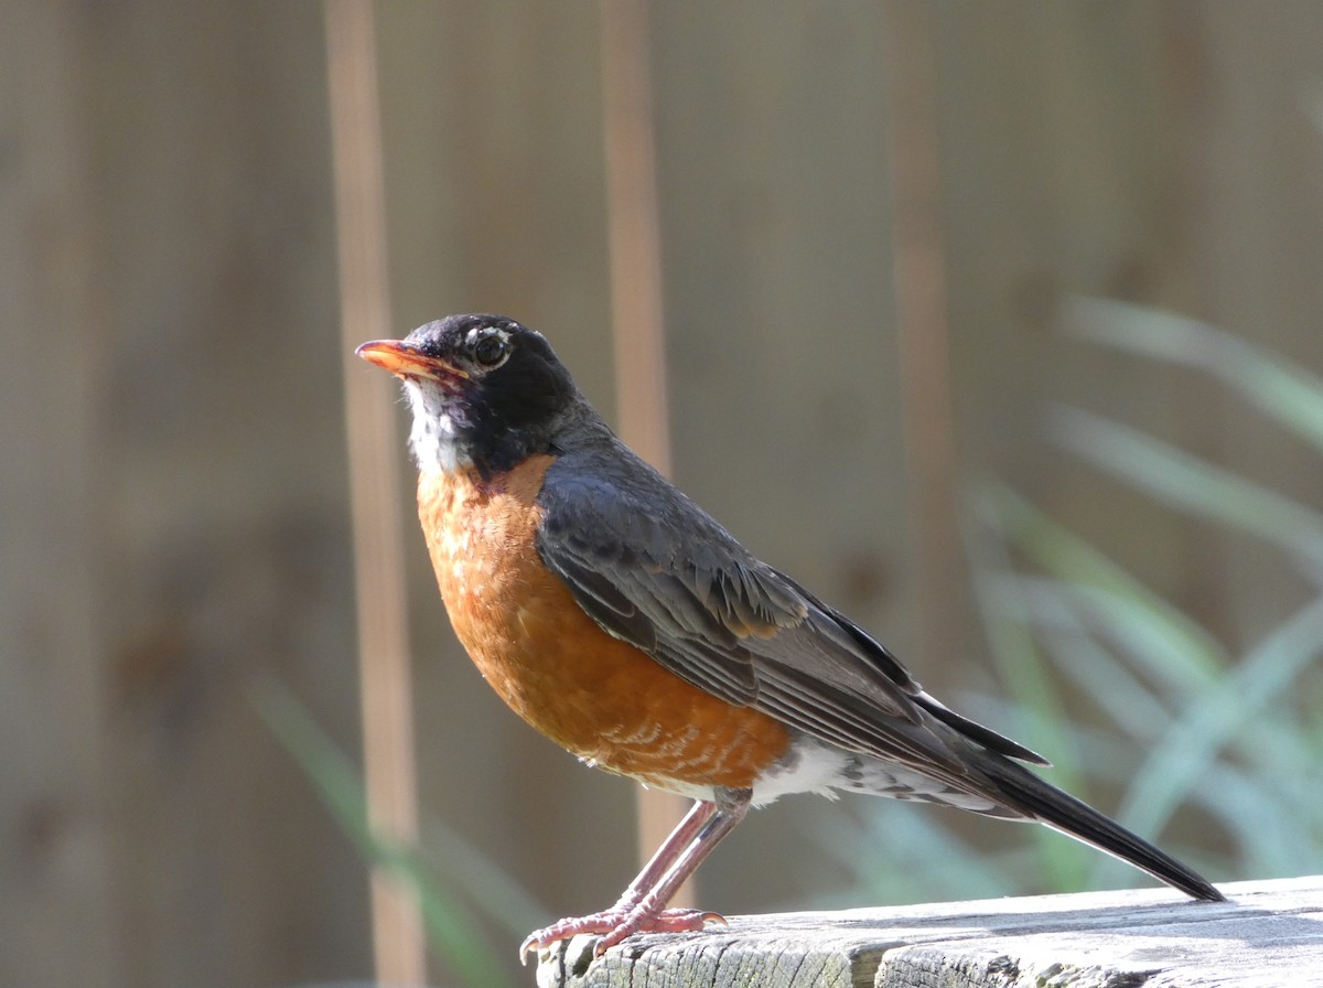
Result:
{"label": "robin's black head with orange beak and white-streaked throat", "polygon": [[545,452],[582,401],[542,335],[505,316],[446,316],[356,352],[404,382],[422,471],[512,467]]}

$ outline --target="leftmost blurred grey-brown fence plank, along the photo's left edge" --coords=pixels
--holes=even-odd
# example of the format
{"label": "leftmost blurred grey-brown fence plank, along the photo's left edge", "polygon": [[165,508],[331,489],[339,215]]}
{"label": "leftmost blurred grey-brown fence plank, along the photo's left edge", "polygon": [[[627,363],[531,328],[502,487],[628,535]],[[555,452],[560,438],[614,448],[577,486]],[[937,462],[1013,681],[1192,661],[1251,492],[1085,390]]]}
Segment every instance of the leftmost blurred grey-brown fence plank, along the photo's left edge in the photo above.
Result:
{"label": "leftmost blurred grey-brown fence plank, along the photo's left edge", "polygon": [[97,470],[105,347],[73,3],[0,32],[0,984],[116,985]]}

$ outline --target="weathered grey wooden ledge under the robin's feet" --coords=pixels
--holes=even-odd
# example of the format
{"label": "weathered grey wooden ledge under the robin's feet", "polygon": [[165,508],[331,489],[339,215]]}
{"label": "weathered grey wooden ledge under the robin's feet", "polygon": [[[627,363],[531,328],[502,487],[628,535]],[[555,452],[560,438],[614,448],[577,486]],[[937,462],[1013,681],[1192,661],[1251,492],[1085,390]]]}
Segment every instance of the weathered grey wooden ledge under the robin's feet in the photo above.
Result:
{"label": "weathered grey wooden ledge under the robin's feet", "polygon": [[541,988],[1232,988],[1323,985],[1323,876],[732,917],[728,928],[591,938],[542,954]]}

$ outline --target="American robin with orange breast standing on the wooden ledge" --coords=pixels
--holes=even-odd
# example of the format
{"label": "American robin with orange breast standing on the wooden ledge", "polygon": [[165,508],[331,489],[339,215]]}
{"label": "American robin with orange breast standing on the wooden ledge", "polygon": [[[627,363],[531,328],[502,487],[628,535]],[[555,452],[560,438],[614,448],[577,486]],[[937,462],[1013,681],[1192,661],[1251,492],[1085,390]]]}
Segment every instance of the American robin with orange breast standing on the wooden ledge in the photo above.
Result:
{"label": "American robin with orange breast standing on the wooden ledge", "polygon": [[427,549],[487,681],[587,764],[695,800],[614,906],[537,930],[521,958],[576,934],[602,934],[601,954],[721,921],[667,902],[749,807],[789,792],[1035,820],[1222,898],[754,557],[617,439],[540,333],[459,315],[357,353],[404,382]]}

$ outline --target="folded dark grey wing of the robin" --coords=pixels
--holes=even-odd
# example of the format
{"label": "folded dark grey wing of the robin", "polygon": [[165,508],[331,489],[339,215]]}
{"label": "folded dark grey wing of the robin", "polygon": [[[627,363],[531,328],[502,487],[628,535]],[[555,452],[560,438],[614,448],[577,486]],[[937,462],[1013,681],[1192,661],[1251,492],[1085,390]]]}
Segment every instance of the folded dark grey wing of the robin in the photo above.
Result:
{"label": "folded dark grey wing of the robin", "polygon": [[538,553],[578,604],[693,685],[881,758],[951,770],[935,718],[1045,764],[937,702],[880,643],[750,554],[642,460],[628,470],[614,458],[591,470],[561,460],[538,503]]}

